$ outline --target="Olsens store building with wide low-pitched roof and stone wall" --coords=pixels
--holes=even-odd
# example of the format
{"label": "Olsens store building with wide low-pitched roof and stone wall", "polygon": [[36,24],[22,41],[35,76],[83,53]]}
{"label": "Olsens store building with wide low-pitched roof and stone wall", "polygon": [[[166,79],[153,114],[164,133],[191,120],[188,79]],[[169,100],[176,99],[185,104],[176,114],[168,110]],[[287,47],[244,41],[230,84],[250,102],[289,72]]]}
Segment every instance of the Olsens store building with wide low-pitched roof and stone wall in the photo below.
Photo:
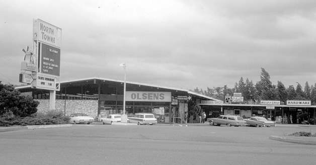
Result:
{"label": "Olsens store building with wide low-pitched roof and stone wall", "polygon": [[[49,110],[48,90],[32,89],[31,86],[16,89],[40,102],[38,112]],[[94,118],[123,114],[123,94],[123,80],[91,77],[63,81],[60,91],[56,92],[55,109],[66,115],[86,113]],[[186,89],[126,81],[125,114],[128,116],[153,113],[161,123],[184,123],[188,103],[196,104],[196,100],[219,101]]]}

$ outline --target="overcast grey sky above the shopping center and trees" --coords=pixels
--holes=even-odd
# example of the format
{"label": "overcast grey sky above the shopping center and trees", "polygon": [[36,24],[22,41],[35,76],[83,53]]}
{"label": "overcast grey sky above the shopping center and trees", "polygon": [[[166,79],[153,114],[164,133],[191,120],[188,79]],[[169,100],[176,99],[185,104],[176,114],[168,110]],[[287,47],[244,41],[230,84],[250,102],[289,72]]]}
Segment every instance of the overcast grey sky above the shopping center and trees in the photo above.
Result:
{"label": "overcast grey sky above the shopping center and trees", "polygon": [[316,82],[316,1],[1,1],[0,80],[19,83],[33,19],[62,29],[61,81],[126,79],[193,90],[241,77]]}

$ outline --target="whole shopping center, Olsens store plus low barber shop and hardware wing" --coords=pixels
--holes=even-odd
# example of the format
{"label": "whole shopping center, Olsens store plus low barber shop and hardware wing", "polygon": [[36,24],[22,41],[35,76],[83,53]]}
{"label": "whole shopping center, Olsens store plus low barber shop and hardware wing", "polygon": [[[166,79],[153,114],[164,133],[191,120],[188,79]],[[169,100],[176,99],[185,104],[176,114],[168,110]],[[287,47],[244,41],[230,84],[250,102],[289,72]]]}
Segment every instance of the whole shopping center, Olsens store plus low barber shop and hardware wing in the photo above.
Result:
{"label": "whole shopping center, Olsens store plus low barber shop and hardware wing", "polygon": [[[22,95],[32,96],[40,102],[38,112],[49,110],[49,91],[31,86],[17,87]],[[296,101],[283,105],[280,101],[241,104],[217,100],[187,89],[163,87],[126,81],[125,114],[153,113],[160,123],[200,122],[197,110],[206,113],[206,118],[219,115],[238,115],[244,118],[264,116],[277,123],[316,124],[316,106],[310,101]],[[55,109],[66,115],[86,113],[98,118],[109,114],[123,114],[124,81],[100,77],[83,78],[60,82],[56,92]],[[273,103],[273,104],[269,104]],[[277,103],[277,104],[275,104]],[[188,117],[186,118],[185,112]],[[201,112],[201,111],[200,111]]]}

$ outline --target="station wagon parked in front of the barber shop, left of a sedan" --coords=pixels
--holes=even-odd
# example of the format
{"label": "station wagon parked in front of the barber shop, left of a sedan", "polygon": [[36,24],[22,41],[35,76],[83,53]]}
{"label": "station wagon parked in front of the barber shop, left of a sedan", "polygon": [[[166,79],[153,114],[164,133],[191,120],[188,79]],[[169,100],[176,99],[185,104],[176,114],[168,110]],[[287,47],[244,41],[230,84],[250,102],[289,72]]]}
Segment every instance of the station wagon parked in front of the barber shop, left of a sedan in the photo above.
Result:
{"label": "station wagon parked in front of the barber shop, left of a sedan", "polygon": [[246,126],[246,121],[242,117],[234,115],[220,115],[217,118],[208,118],[207,121],[210,125]]}

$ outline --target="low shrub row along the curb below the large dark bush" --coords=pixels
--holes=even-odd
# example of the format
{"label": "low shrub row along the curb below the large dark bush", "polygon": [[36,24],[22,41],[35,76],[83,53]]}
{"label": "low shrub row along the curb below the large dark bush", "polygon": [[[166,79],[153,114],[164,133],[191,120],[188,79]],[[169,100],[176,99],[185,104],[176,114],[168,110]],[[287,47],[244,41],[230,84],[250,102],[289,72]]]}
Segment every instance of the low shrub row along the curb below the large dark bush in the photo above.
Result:
{"label": "low shrub row along the curb below the large dark bush", "polygon": [[0,126],[8,127],[12,125],[52,125],[67,124],[69,116],[64,116],[62,112],[49,111],[47,113],[36,113],[29,117],[17,117],[12,112],[8,112],[0,117]]}

